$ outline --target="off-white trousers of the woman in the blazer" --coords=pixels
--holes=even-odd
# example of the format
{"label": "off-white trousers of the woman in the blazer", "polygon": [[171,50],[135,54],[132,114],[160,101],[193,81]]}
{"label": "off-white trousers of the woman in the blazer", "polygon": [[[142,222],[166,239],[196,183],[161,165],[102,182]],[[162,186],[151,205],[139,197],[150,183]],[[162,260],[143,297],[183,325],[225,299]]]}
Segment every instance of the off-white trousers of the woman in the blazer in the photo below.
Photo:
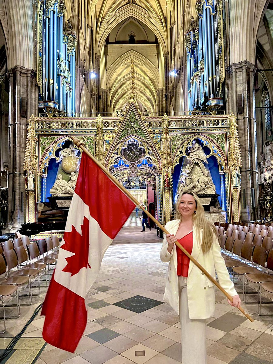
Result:
{"label": "off-white trousers of the woman in the blazer", "polygon": [[179,281],[179,318],[182,334],[182,364],[206,364],[206,320],[190,320],[187,277]]}

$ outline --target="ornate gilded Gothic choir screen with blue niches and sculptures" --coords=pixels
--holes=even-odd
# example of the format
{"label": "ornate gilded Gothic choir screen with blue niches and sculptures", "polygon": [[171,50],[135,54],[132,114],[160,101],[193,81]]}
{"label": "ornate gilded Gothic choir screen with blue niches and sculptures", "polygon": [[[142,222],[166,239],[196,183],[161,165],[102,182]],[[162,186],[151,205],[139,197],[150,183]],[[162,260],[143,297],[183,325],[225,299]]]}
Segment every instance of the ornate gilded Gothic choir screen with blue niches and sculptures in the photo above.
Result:
{"label": "ornate gilded Gothic choir screen with blue niches and sculptures", "polygon": [[174,217],[174,202],[185,188],[202,198],[211,221],[240,221],[234,115],[143,117],[134,102],[123,117],[31,117],[24,162],[27,221],[37,221],[40,202],[69,206],[81,157],[70,135],[126,188],[145,189],[143,202],[161,223]]}

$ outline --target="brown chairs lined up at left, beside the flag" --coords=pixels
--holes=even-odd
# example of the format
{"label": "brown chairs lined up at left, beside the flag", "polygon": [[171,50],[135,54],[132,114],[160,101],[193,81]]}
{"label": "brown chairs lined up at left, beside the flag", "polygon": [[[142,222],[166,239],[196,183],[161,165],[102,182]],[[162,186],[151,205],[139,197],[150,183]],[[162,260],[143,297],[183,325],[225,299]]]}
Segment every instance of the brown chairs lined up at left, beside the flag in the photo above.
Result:
{"label": "brown chairs lined up at left, beside the flag", "polygon": [[[16,292],[17,313],[20,316],[20,296],[19,287],[29,290],[29,304],[32,304],[31,278],[38,281],[38,294],[40,294],[40,273],[45,271],[46,282],[48,268],[48,281],[50,280],[50,265],[56,264],[58,252],[54,251],[59,246],[55,238],[47,238],[37,242],[30,242],[28,237],[8,240],[0,245],[0,301],[4,311],[4,331],[5,332],[5,303],[4,297],[11,296]],[[54,244],[53,244],[54,242]],[[25,249],[26,246],[27,250]],[[55,245],[55,248],[54,248]],[[35,259],[35,262],[31,261]],[[5,277],[1,277],[4,275]]]}

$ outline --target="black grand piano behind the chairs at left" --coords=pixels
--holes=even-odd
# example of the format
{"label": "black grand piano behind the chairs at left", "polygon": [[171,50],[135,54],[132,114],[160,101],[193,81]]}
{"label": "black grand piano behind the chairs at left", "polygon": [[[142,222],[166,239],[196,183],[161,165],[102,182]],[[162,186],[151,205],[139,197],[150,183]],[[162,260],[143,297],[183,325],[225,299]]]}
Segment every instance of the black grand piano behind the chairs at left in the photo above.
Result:
{"label": "black grand piano behind the chairs at left", "polygon": [[64,230],[67,214],[68,208],[56,208],[52,201],[37,202],[37,222],[23,224],[19,232],[34,238],[35,235],[45,231]]}

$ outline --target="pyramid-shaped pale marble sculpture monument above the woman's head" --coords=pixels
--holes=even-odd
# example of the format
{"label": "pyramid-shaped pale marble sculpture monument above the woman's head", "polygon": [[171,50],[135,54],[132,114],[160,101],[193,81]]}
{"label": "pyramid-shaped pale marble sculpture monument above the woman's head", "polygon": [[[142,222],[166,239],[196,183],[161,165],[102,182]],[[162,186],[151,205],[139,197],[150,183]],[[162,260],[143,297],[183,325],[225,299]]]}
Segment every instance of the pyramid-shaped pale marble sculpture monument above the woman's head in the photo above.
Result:
{"label": "pyramid-shaped pale marble sculpture monument above the woman's head", "polygon": [[187,147],[187,153],[182,164],[178,194],[190,190],[201,198],[205,211],[222,211],[202,146],[194,140]]}

